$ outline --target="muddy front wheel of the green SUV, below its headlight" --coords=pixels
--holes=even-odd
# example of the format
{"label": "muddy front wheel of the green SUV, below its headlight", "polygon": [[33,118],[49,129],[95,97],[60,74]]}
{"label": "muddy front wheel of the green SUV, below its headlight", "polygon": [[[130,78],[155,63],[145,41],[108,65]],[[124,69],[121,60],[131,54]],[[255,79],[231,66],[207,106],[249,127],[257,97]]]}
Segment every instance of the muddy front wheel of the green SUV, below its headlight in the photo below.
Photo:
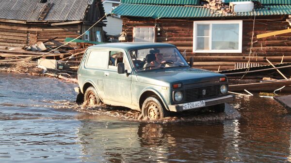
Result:
{"label": "muddy front wheel of the green SUV, below its headlight", "polygon": [[160,120],[169,116],[161,100],[157,96],[148,97],[142,106],[142,115],[146,119]]}

